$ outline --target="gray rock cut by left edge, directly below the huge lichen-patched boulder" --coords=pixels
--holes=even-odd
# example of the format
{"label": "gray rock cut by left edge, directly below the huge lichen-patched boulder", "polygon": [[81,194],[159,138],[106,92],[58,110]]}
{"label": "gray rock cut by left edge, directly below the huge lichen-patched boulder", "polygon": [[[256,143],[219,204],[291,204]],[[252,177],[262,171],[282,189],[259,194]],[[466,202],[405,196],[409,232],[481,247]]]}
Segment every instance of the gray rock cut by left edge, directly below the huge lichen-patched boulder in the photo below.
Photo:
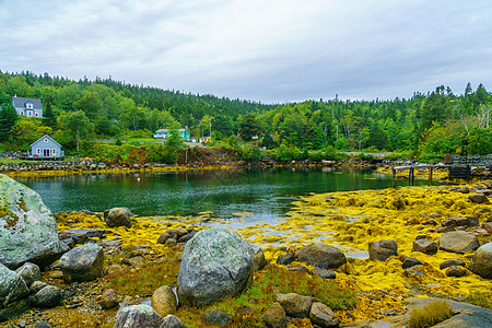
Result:
{"label": "gray rock cut by left edge, directly below the huge lichen-patched boulder", "polygon": [[0,263],[0,309],[30,295],[22,277]]}

